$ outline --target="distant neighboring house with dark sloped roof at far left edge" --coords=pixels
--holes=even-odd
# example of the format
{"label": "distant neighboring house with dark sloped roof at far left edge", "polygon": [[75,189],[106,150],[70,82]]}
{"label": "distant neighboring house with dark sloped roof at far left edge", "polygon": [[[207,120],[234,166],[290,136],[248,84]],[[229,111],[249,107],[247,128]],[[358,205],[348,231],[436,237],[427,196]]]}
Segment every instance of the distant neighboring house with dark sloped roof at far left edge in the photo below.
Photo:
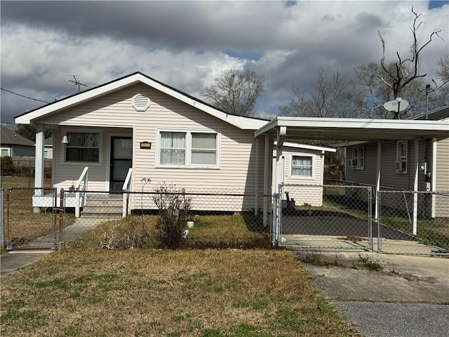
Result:
{"label": "distant neighboring house with dark sloped roof at far left edge", "polygon": [[34,143],[15,131],[1,126],[1,157],[34,157]]}

